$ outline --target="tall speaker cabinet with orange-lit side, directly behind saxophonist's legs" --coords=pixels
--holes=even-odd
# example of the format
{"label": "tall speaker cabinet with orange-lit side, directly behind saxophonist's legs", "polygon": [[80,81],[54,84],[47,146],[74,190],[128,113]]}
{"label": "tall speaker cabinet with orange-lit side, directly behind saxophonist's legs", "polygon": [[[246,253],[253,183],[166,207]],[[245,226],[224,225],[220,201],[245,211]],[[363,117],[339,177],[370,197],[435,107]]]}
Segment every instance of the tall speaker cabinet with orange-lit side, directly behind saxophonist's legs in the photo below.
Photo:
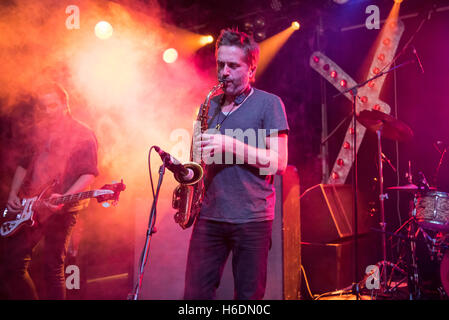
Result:
{"label": "tall speaker cabinet with orange-lit side, directly behind saxophonist's legs", "polygon": [[[301,287],[300,187],[296,167],[288,166],[275,177],[276,207],[272,247],[268,253],[267,286],[264,299],[296,300]],[[232,257],[228,259],[217,299],[233,299]]]}

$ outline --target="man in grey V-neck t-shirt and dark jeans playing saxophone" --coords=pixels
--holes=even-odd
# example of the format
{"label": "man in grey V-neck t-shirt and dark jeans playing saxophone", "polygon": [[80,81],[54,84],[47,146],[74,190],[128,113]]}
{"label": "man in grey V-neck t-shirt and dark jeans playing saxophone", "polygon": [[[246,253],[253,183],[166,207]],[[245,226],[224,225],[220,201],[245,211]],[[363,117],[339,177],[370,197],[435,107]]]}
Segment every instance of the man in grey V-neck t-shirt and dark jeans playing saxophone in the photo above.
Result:
{"label": "man in grey V-neck t-shirt and dark jeans playing saxophone", "polygon": [[222,30],[216,43],[223,94],[212,98],[194,150],[207,164],[204,198],[190,239],[185,299],[213,299],[232,252],[234,298],[262,299],[274,219],[274,175],[287,166],[288,122],[281,99],[251,86],[259,47]]}

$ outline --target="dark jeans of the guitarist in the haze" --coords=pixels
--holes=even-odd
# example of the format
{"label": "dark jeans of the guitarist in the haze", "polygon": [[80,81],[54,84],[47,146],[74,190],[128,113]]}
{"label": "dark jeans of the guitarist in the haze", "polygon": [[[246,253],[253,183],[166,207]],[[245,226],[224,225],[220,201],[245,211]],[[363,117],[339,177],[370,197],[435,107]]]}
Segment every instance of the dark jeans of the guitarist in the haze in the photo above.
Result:
{"label": "dark jeans of the guitarist in the haze", "polygon": [[38,299],[38,293],[29,269],[33,249],[42,247],[42,273],[45,286],[44,299],[65,299],[64,260],[70,234],[78,214],[63,212],[52,215],[44,225],[23,227],[16,234],[1,239],[2,257],[0,281],[5,286],[7,299]]}

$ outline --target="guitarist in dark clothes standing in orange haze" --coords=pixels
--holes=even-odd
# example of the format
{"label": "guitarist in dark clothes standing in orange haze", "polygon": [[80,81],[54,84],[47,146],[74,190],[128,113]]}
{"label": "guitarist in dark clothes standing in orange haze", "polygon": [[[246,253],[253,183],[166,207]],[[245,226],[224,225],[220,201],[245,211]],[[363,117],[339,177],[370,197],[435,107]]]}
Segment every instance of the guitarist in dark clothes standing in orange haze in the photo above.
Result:
{"label": "guitarist in dark clothes standing in orange haze", "polygon": [[[20,212],[20,198],[39,195],[47,187],[44,199],[88,189],[98,175],[97,140],[86,125],[71,116],[67,92],[56,83],[39,85],[35,92],[39,110],[35,134],[29,141],[33,152],[18,164],[7,209]],[[45,299],[65,299],[64,260],[77,212],[87,203],[77,206],[55,206],[48,201],[37,210],[37,224],[21,228],[11,237],[2,239],[5,246],[1,257],[3,279],[10,299],[37,299],[38,294],[29,274],[33,248],[44,241]],[[1,274],[1,273],[0,273]]]}

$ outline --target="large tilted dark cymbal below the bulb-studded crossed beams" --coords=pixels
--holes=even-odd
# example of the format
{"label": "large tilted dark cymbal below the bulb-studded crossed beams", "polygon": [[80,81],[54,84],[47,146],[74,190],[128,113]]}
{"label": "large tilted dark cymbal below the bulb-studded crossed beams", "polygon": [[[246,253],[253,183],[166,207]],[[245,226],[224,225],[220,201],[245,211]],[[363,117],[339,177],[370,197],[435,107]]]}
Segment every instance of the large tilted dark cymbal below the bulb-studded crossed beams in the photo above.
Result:
{"label": "large tilted dark cymbal below the bulb-studded crossed beams", "polygon": [[407,141],[413,138],[413,131],[404,122],[378,110],[363,110],[357,120],[368,130],[377,132],[381,130],[384,138]]}

